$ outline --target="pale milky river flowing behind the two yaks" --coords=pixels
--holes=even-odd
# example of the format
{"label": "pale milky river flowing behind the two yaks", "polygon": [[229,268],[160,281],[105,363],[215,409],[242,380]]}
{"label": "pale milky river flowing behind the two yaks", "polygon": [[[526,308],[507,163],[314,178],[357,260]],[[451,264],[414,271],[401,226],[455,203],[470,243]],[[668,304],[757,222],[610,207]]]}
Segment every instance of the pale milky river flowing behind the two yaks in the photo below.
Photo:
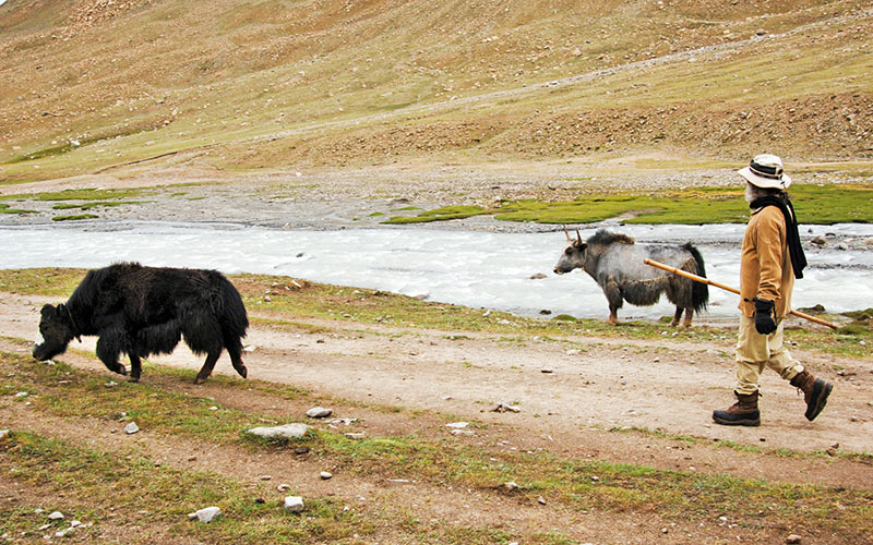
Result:
{"label": "pale milky river flowing behind the two yaks", "polygon": [[[692,241],[707,276],[739,287],[743,225],[621,226],[638,242]],[[810,266],[794,288],[794,306],[824,305],[828,312],[873,306],[871,225],[803,226]],[[583,239],[593,234],[582,230]],[[817,249],[814,235],[827,235]],[[833,241],[845,240],[848,250]],[[538,316],[606,318],[607,303],[582,271],[552,272],[565,246],[562,232],[492,233],[440,229],[282,230],[239,225],[93,223],[0,228],[0,268],[85,267],[137,261],[144,265],[214,268],[226,274],[285,275],[420,296],[429,301]],[[545,278],[531,278],[545,275]],[[707,316],[737,314],[737,295],[710,288]],[[651,307],[625,304],[620,319],[672,314],[666,299]]]}

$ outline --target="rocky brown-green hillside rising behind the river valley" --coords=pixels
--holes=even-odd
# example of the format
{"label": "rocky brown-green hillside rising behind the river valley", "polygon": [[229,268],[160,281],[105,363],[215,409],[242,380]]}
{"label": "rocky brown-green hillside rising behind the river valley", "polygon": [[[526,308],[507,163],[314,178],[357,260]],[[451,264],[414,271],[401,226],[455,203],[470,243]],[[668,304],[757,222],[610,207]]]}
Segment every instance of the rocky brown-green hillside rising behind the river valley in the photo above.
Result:
{"label": "rocky brown-green hillside rising behind the river valley", "polygon": [[0,180],[662,152],[873,157],[873,8],[11,0]]}

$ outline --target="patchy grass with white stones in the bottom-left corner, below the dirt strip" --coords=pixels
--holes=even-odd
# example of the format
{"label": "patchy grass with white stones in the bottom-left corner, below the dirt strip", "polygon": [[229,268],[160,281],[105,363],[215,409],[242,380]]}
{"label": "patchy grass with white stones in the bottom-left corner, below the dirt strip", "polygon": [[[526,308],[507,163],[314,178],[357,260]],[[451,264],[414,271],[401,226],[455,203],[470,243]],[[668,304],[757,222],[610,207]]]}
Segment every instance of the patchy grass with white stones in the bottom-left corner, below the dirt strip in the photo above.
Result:
{"label": "patchy grass with white stones in the bottom-left corner, below the dirt strip", "polygon": [[[101,524],[130,524],[139,534],[136,526],[147,524],[216,543],[297,544],[333,543],[375,528],[331,498],[308,498],[304,513],[292,514],[278,499],[255,501],[255,492],[220,474],[156,467],[132,449],[121,455],[16,432],[0,444],[0,467],[20,486],[63,493],[65,502],[82,506],[64,512],[95,525],[75,535],[99,535]],[[213,505],[223,514],[212,523],[188,520],[188,512]],[[0,508],[0,532],[33,532],[36,517],[27,511]]]}

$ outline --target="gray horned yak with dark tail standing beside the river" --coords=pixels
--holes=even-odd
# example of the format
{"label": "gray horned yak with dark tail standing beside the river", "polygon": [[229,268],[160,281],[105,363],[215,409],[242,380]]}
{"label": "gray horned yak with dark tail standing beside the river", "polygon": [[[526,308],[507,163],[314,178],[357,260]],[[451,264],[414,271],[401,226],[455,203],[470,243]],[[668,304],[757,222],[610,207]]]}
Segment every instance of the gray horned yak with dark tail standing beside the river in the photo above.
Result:
{"label": "gray horned yak with dark tail standing beside the river", "polygon": [[705,277],[703,256],[686,243],[683,245],[636,244],[634,239],[625,234],[612,233],[600,229],[587,241],[576,230],[576,240],[566,232],[570,245],[564,250],[554,272],[563,275],[581,268],[597,281],[609,302],[609,323],[618,324],[618,311],[622,301],[632,305],[648,306],[658,302],[661,293],[675,305],[675,314],[671,326],[679,325],[682,313],[685,313],[684,327],[691,327],[694,312],[706,308],[709,301],[709,288],[705,283],[690,278],[673,275],[649,265],[643,259],[648,257],[672,267],[677,267],[697,276]]}

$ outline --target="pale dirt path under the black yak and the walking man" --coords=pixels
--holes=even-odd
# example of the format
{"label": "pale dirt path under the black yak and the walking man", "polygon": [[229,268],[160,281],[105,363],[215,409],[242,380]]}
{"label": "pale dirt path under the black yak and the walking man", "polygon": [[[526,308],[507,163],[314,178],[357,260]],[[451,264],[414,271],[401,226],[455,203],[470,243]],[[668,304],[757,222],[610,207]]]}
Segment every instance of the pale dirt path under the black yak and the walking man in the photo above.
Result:
{"label": "pale dirt path under the black yak and the walking man", "polygon": [[[35,337],[38,308],[47,301],[2,294],[0,336]],[[825,361],[799,353],[813,371],[835,384],[826,411],[815,422],[806,422],[802,397],[768,374],[762,382],[762,427],[732,428],[713,424],[709,416],[714,408],[727,407],[731,399],[731,338],[717,346],[667,341],[653,348],[597,338],[453,340],[446,331],[402,332],[390,326],[343,322],[316,325],[333,332],[276,330],[255,324],[247,339],[254,348],[246,354],[249,376],[334,399],[426,409],[445,415],[445,423],[477,420],[493,429],[494,445],[511,434],[507,450],[541,447],[572,458],[873,489],[873,472],[864,463],[773,453],[779,448],[822,451],[835,444],[842,451],[873,450],[869,380],[873,362],[869,360]],[[73,341],[71,348],[93,353],[95,339],[83,340]],[[101,368],[92,356],[71,352],[63,358]],[[192,370],[201,365],[182,347],[153,361]],[[842,374],[837,375],[832,365],[844,367]],[[226,356],[216,372],[232,373]],[[150,380],[147,370],[143,380]],[[522,411],[492,412],[499,402],[514,402]],[[373,425],[383,426],[385,434],[396,433],[405,425],[402,421],[368,416],[368,422],[381,423]],[[619,428],[663,435],[614,433]],[[706,440],[689,443],[669,436]],[[761,452],[717,447],[715,439],[757,447]]]}

